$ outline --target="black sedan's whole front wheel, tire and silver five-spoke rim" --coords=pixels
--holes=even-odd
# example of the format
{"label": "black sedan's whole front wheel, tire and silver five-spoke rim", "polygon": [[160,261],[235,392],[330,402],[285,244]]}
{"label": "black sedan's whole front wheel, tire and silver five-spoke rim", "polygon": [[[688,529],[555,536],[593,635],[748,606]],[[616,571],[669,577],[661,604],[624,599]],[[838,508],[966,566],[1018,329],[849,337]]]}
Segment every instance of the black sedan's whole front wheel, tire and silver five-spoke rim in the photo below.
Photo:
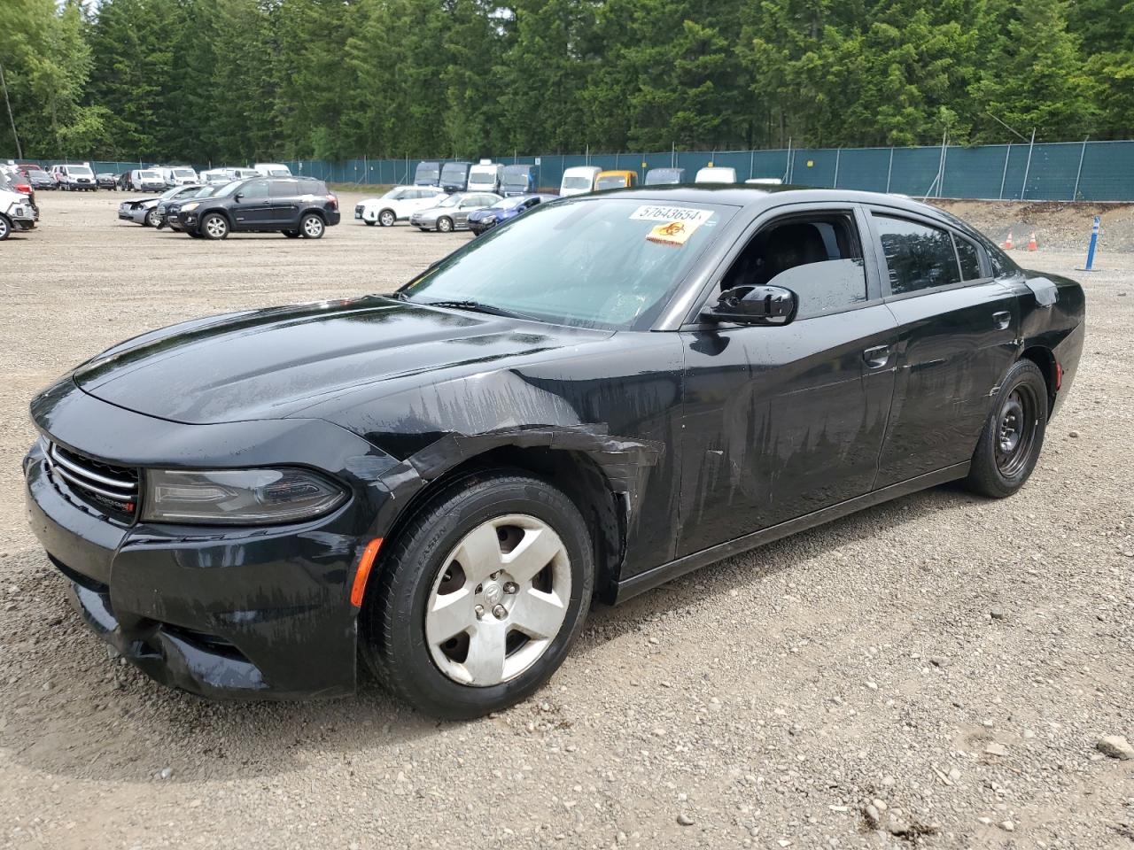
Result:
{"label": "black sedan's whole front wheel, tire and silver five-spoke rim", "polygon": [[[523,543],[532,530],[538,556],[516,558],[501,568],[503,576],[491,572],[509,537]],[[497,549],[465,575],[456,559],[466,545],[489,553],[475,546],[484,535]],[[381,553],[359,614],[363,657],[389,690],[426,714],[465,720],[514,705],[551,677],[582,630],[594,590],[592,551],[578,509],[547,482],[507,470],[462,478],[417,511]],[[544,556],[545,566],[538,567]],[[525,577],[522,570],[533,567],[535,577]],[[446,628],[426,611],[450,594],[462,594],[457,602],[464,604],[447,606],[460,615]],[[525,621],[540,622],[533,614],[544,620],[528,635],[521,629],[528,629]],[[467,630],[443,639],[466,618]]]}

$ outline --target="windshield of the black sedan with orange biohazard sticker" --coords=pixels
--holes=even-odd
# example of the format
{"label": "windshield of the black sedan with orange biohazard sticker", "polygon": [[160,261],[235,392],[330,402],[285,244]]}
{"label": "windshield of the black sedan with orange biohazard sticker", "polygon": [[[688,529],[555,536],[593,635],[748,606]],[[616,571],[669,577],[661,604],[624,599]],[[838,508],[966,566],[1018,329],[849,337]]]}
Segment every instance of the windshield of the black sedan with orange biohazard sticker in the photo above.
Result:
{"label": "windshield of the black sedan with orange biohazard sticker", "polygon": [[411,301],[471,300],[578,328],[644,328],[734,213],[618,197],[540,204],[401,292]]}

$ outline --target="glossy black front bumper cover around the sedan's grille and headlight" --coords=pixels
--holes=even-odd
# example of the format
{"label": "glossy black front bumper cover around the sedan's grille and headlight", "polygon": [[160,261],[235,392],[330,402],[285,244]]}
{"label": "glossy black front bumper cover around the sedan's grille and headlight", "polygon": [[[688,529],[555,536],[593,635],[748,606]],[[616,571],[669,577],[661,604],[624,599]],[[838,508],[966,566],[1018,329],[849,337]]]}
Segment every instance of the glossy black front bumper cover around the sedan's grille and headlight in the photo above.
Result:
{"label": "glossy black front bumper cover around the sedan's grille and headlight", "polygon": [[[77,388],[60,394],[62,401],[52,411],[52,439],[71,448],[61,434],[76,433],[76,410],[84,409],[86,436],[93,437],[92,454],[98,457],[107,457],[99,453],[103,447],[98,444],[104,442],[99,436],[115,431],[122,435],[110,437],[121,439],[122,445],[116,448],[125,448],[126,440],[144,432],[168,445],[161,432],[171,428],[194,432],[172,440],[180,444],[200,445],[198,440],[210,443],[212,437],[231,444],[235,439],[245,445],[240,457],[254,465],[280,461],[248,456],[256,451],[251,426],[266,425],[269,432],[279,432],[260,437],[277,450],[285,444],[313,445],[313,440],[324,447],[328,440],[338,443],[340,449],[321,458],[321,468],[344,467],[335,474],[350,484],[352,499],[327,517],[289,527],[238,529],[116,520],[53,473],[43,440],[26,456],[24,471],[32,529],[67,578],[71,605],[95,634],[147,675],[211,698],[290,699],[353,692],[357,610],[349,602],[350,584],[365,542],[380,536],[373,535],[371,526],[386,491],[352,479],[345,469],[378,469],[392,459],[321,420],[174,425],[113,408]],[[127,436],[132,431],[133,437]],[[302,454],[298,448],[294,450]],[[325,462],[335,454],[338,459]],[[313,459],[293,457],[291,462]],[[215,460],[203,457],[201,462],[214,467]],[[177,459],[169,462],[177,465]]]}

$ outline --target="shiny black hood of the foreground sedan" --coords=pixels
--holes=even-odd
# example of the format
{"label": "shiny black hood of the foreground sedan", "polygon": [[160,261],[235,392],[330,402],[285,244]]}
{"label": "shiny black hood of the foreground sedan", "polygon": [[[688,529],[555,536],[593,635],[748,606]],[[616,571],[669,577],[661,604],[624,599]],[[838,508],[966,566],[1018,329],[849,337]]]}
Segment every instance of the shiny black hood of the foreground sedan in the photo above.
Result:
{"label": "shiny black hood of the foreground sedan", "polygon": [[[609,337],[370,296],[175,325],[108,349],[74,380],[103,401],[174,422],[270,419]],[[354,394],[363,389],[371,394]]]}

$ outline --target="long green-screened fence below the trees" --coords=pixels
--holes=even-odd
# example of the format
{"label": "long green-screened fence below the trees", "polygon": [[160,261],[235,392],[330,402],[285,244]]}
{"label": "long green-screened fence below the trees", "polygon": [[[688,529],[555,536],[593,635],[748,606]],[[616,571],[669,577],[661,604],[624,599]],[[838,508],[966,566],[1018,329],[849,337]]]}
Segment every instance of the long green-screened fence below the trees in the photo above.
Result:
{"label": "long green-screened fence below the trees", "polygon": [[[36,160],[50,167],[61,160]],[[285,161],[293,173],[328,182],[381,186],[413,182],[417,163],[432,159],[361,159]],[[914,197],[1026,201],[1134,201],[1134,141],[1056,142],[1036,145],[956,145],[936,147],[822,147],[778,151],[667,151],[661,153],[551,154],[499,156],[494,162],[528,164],[538,185],[557,192],[573,165],[637,172],[653,168],[685,169],[692,182],[706,165],[733,168],[737,180],[777,178],[799,186],[892,192]],[[141,162],[91,162],[95,172],[120,173]],[[220,168],[246,163],[195,163]]]}

